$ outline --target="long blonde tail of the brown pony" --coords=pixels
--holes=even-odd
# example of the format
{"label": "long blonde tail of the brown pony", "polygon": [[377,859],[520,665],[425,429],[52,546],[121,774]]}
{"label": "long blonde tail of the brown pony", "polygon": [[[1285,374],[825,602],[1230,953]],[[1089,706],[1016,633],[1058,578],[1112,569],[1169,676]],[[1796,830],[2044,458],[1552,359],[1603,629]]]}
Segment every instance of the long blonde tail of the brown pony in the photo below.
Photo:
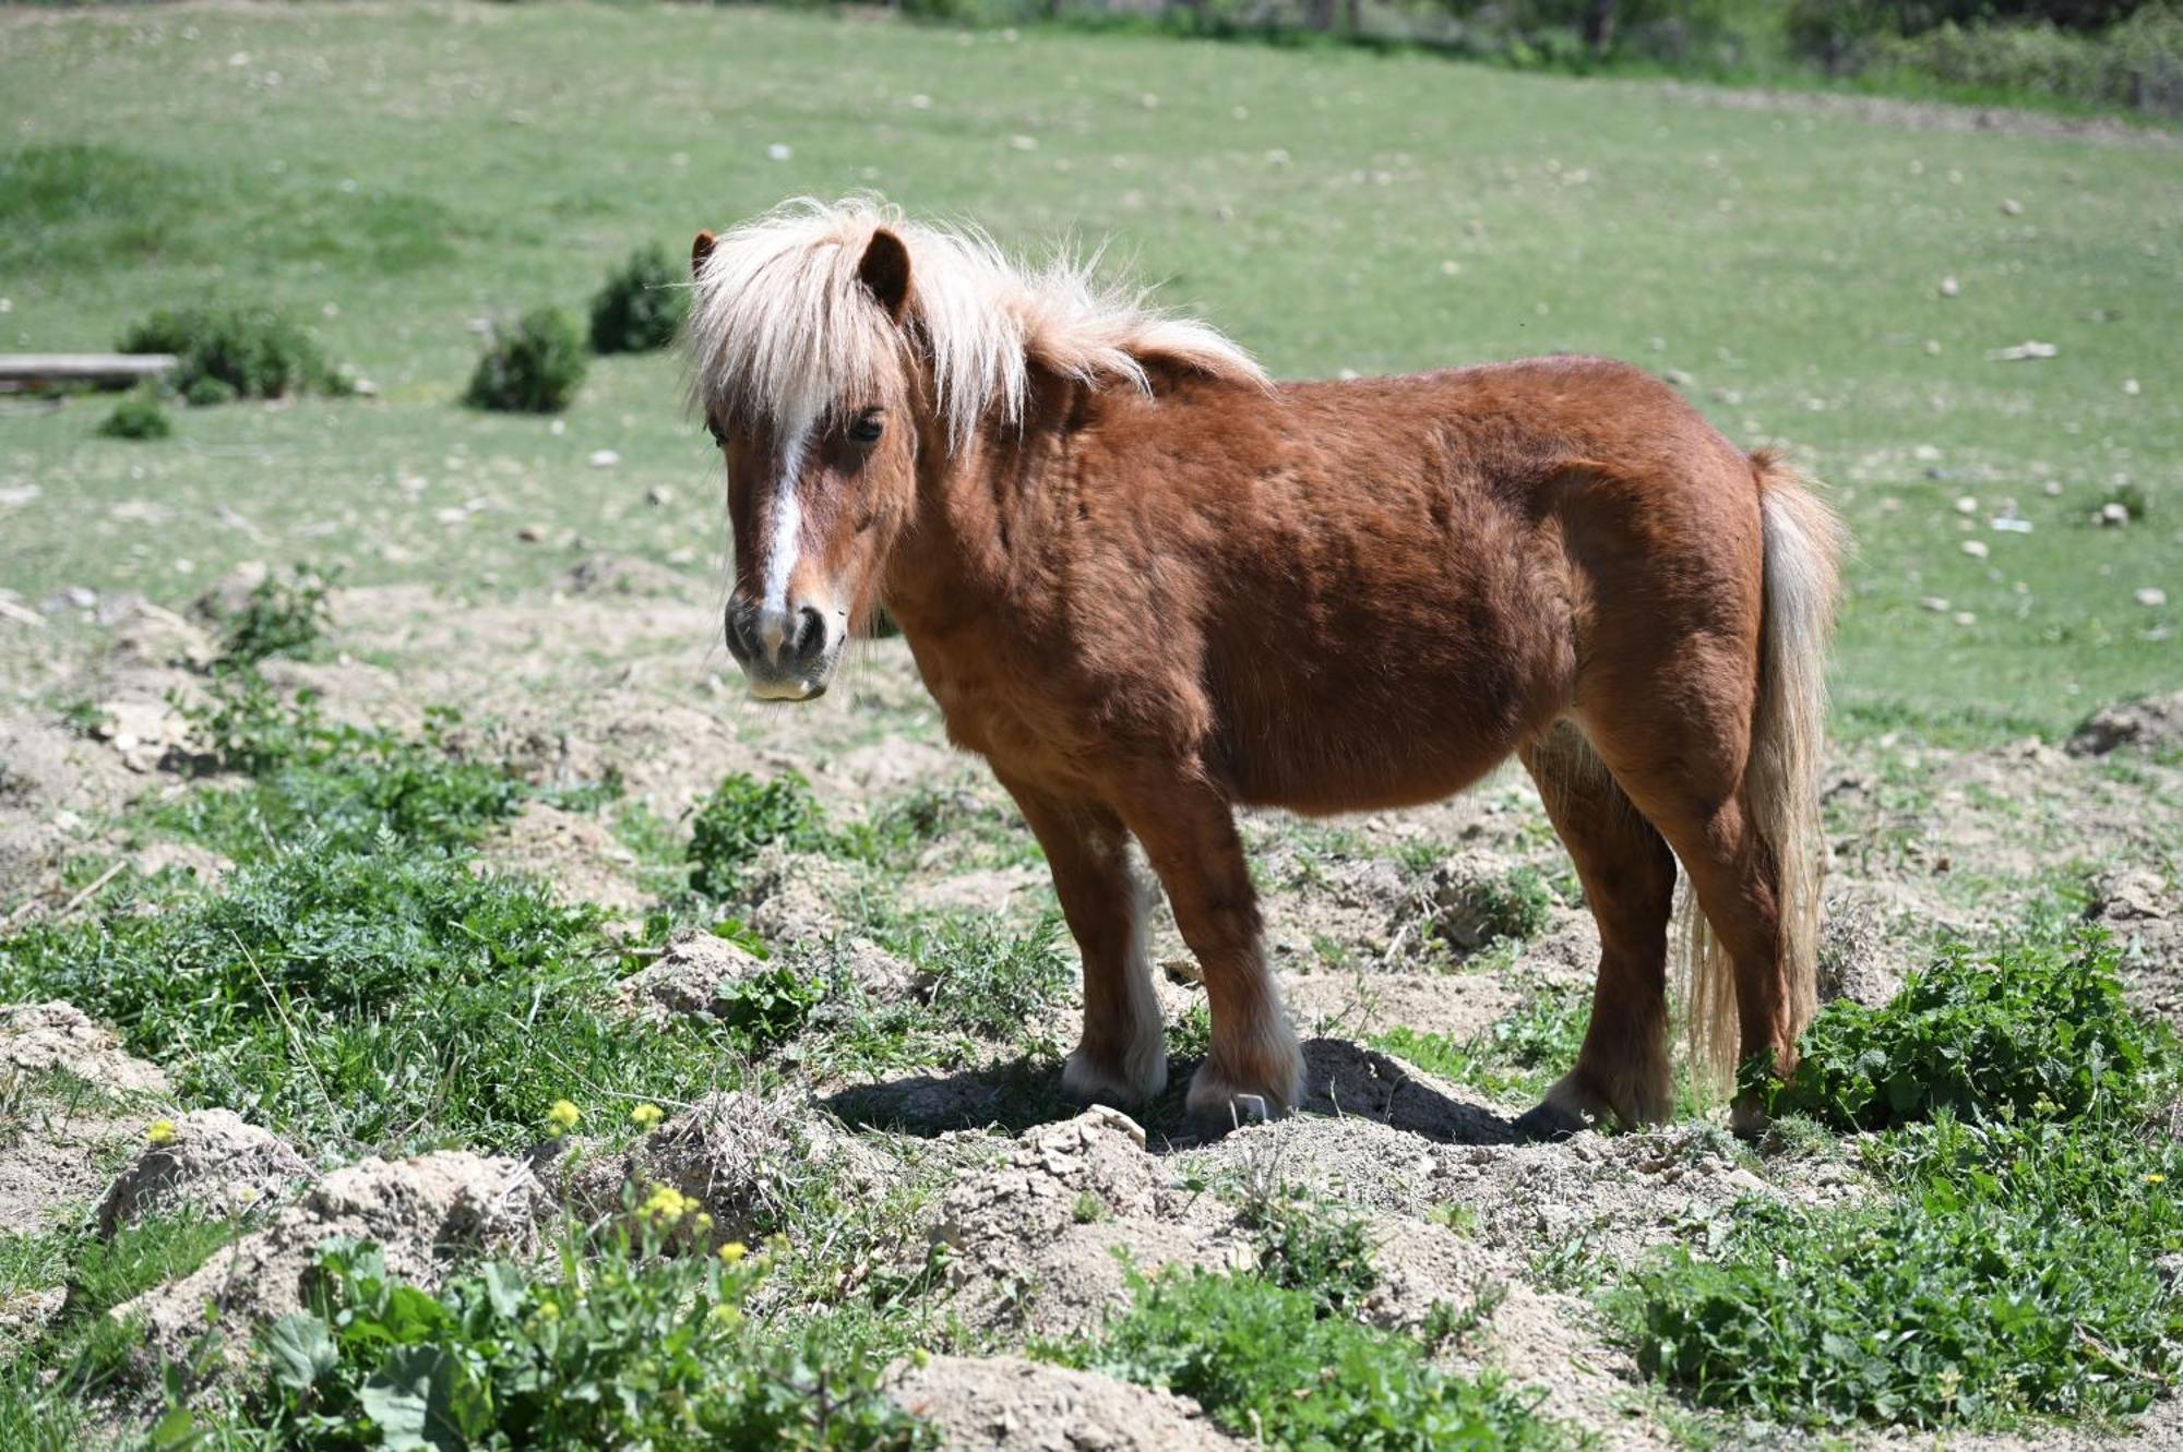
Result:
{"label": "long blonde tail of the brown pony", "polygon": [[[1790,1029],[1818,1012],[1818,894],[1825,868],[1818,822],[1818,763],[1827,722],[1827,639],[1840,593],[1842,525],[1812,486],[1768,451],[1751,456],[1766,541],[1759,700],[1751,719],[1744,807],[1775,863],[1781,918],[1781,977]],[[1705,913],[1683,916],[1690,1062],[1714,1086],[1735,1073],[1740,1025],[1735,968]]]}

